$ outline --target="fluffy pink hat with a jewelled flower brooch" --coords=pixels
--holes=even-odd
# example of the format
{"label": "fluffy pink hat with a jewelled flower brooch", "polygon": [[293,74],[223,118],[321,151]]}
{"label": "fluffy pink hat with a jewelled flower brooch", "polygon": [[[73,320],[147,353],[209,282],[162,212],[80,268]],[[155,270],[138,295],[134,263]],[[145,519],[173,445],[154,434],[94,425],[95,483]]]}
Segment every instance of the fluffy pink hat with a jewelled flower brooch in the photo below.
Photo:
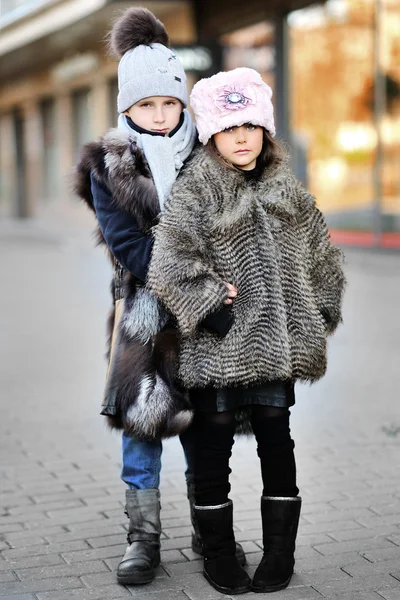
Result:
{"label": "fluffy pink hat with a jewelled flower brooch", "polygon": [[214,133],[251,123],[275,135],[272,90],[261,75],[241,67],[200,79],[193,87],[190,104],[202,144]]}

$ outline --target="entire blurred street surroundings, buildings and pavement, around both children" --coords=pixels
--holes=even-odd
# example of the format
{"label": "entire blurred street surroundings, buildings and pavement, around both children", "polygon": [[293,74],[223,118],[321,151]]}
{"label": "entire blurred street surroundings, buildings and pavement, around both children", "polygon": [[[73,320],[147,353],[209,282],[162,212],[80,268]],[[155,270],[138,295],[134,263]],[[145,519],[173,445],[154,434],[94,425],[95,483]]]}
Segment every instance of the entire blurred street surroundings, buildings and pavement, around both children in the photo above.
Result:
{"label": "entire blurred street surroundings, buildings and pavement, around both children", "polygon": [[[127,523],[120,436],[98,416],[112,269],[70,186],[82,144],[117,123],[105,36],[132,4],[165,23],[189,88],[221,69],[261,72],[296,174],[347,246],[328,373],[296,387],[304,508],[284,597],[398,600],[400,0],[0,0],[0,600],[132,597],[112,572]],[[233,461],[235,535],[255,565],[253,439],[236,441]],[[143,599],[206,597],[183,471],[174,438],[168,567]]]}

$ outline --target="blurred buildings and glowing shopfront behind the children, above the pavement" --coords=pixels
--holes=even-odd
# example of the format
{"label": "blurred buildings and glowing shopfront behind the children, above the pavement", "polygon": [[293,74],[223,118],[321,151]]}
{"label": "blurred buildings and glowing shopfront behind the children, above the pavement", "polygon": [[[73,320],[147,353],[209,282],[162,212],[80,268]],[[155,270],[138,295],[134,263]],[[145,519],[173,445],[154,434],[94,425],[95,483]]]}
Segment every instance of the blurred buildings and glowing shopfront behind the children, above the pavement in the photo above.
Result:
{"label": "blurred buildings and glowing shopfront behind the children, above the pavement", "polygon": [[253,67],[336,241],[400,247],[400,0],[0,0],[0,216],[80,217],[69,174],[116,124],[110,22],[166,25],[189,88]]}

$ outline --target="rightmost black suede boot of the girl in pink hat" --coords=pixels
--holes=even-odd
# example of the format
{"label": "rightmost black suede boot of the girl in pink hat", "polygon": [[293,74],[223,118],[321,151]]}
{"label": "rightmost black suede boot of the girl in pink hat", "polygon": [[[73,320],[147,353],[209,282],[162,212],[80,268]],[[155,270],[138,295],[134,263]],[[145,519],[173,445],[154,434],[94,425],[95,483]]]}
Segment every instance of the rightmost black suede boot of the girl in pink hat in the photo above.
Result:
{"label": "rightmost black suede boot of the girl in pink hat", "polygon": [[261,498],[264,556],[254,574],[253,592],[277,592],[292,578],[301,498]]}

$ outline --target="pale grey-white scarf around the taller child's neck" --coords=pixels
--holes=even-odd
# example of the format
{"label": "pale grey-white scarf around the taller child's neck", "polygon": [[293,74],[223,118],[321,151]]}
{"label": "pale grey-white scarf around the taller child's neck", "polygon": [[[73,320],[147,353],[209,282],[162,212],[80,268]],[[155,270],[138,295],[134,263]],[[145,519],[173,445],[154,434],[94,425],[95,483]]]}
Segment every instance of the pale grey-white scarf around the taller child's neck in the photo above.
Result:
{"label": "pale grey-white scarf around the taller child's neck", "polygon": [[183,113],[183,123],[172,137],[138,133],[129,126],[126,115],[120,114],[118,118],[118,129],[129,131],[146,157],[161,210],[164,209],[165,200],[197,138],[190,114],[187,110]]}

